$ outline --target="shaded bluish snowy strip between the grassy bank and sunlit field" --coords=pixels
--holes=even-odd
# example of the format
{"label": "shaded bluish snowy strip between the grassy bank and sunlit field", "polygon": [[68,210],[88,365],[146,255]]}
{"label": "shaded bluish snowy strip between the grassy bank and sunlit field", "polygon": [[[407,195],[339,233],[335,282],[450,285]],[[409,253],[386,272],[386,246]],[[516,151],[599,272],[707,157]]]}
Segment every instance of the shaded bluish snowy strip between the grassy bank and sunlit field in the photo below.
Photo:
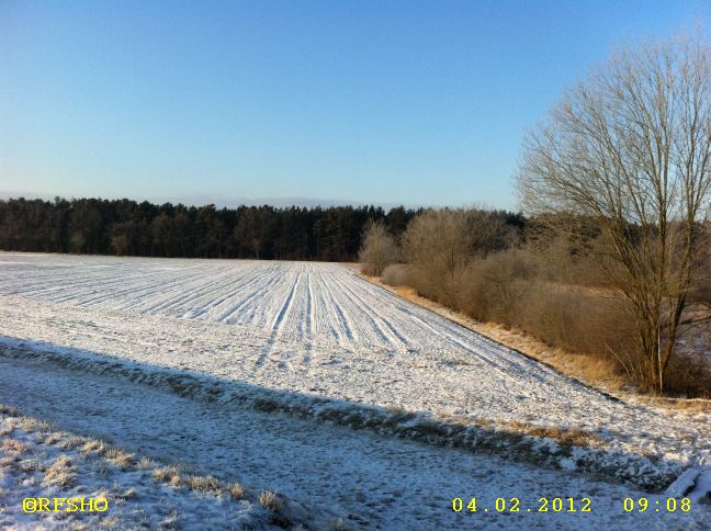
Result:
{"label": "shaded bluish snowy strip between the grassy bank and sunlit field", "polygon": [[[353,529],[702,530],[711,523],[708,505],[695,504],[688,513],[627,513],[624,498],[647,498],[653,508],[659,500],[664,508],[667,497],[569,471],[206,404],[121,379],[0,358],[0,381],[7,384],[0,403],[149,457],[282,493],[342,516]],[[479,511],[452,512],[454,497],[476,497]],[[572,497],[575,504],[588,497],[591,511],[538,512],[541,497]],[[496,498],[519,498],[520,511],[495,513]],[[223,527],[230,522],[226,516]]]}

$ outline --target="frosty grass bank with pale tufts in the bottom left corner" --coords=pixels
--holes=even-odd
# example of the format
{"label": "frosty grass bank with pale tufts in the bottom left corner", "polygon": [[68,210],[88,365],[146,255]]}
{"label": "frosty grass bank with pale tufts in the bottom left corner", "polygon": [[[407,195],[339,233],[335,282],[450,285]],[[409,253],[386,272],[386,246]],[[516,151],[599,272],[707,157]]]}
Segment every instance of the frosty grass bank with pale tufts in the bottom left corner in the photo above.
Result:
{"label": "frosty grass bank with pale tufts in the bottom left corner", "polygon": [[[22,510],[24,498],[40,497],[105,498],[109,509]],[[284,496],[160,465],[0,406],[0,528],[324,529],[339,523]]]}

